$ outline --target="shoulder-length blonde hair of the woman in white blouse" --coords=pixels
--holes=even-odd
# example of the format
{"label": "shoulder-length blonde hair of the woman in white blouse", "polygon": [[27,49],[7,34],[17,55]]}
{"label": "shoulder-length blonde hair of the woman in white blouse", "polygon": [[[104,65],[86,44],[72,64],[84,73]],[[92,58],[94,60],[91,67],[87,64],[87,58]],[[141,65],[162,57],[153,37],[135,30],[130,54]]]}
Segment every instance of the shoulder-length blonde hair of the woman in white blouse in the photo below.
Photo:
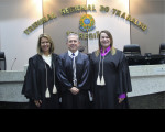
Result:
{"label": "shoulder-length blonde hair of the woman in white blouse", "polygon": [[43,51],[42,51],[42,48],[41,48],[41,38],[42,38],[42,37],[46,37],[46,38],[48,40],[50,44],[51,44],[50,54],[54,53],[55,45],[54,45],[54,43],[53,43],[51,36],[50,36],[48,34],[46,34],[46,33],[43,33],[43,34],[41,34],[41,35],[38,36],[37,47],[36,47],[37,54],[38,54],[38,55],[43,55],[43,54],[44,54]]}

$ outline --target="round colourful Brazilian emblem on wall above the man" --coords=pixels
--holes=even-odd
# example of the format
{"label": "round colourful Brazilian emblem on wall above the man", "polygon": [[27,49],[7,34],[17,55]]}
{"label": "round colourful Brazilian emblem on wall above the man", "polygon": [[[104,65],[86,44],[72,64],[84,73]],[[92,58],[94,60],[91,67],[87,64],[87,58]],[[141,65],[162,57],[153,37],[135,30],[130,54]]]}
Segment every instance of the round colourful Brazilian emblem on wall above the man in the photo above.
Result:
{"label": "round colourful Brazilian emblem on wall above the man", "polygon": [[85,32],[92,31],[96,28],[94,26],[95,20],[90,14],[82,15],[79,20],[79,24],[80,24],[79,29]]}

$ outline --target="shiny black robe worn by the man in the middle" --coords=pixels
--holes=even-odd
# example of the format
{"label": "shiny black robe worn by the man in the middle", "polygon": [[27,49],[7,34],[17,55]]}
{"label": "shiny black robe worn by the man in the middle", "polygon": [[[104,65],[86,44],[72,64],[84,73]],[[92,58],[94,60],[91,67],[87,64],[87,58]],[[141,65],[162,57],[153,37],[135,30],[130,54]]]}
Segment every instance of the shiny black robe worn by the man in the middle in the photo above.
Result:
{"label": "shiny black robe worn by the man in the middle", "polygon": [[63,109],[89,109],[90,89],[90,61],[88,55],[78,53],[75,57],[77,88],[80,89],[77,95],[69,91],[74,87],[73,84],[73,59],[68,56],[68,52],[61,54],[58,59],[58,80],[62,89],[62,106]]}

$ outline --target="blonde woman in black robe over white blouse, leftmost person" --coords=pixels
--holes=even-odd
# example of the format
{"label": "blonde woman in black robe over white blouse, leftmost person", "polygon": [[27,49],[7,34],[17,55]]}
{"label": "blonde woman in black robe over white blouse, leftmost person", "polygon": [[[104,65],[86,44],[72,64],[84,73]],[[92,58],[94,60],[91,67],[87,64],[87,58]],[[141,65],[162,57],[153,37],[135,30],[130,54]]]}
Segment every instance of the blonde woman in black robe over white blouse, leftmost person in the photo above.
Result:
{"label": "blonde woman in black robe over white blouse, leftmost person", "polygon": [[30,99],[30,109],[59,109],[59,88],[56,77],[58,56],[50,35],[41,34],[37,54],[29,59],[22,94]]}

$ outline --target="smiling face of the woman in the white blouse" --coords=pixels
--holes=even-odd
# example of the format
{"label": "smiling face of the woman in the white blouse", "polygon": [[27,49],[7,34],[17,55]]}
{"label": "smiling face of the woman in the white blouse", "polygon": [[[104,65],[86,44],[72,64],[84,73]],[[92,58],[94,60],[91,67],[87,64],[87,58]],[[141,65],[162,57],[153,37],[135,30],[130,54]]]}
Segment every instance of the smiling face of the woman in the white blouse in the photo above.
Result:
{"label": "smiling face of the woman in the white blouse", "polygon": [[41,48],[44,52],[44,54],[50,53],[51,43],[50,43],[48,38],[46,38],[46,37],[41,38]]}

